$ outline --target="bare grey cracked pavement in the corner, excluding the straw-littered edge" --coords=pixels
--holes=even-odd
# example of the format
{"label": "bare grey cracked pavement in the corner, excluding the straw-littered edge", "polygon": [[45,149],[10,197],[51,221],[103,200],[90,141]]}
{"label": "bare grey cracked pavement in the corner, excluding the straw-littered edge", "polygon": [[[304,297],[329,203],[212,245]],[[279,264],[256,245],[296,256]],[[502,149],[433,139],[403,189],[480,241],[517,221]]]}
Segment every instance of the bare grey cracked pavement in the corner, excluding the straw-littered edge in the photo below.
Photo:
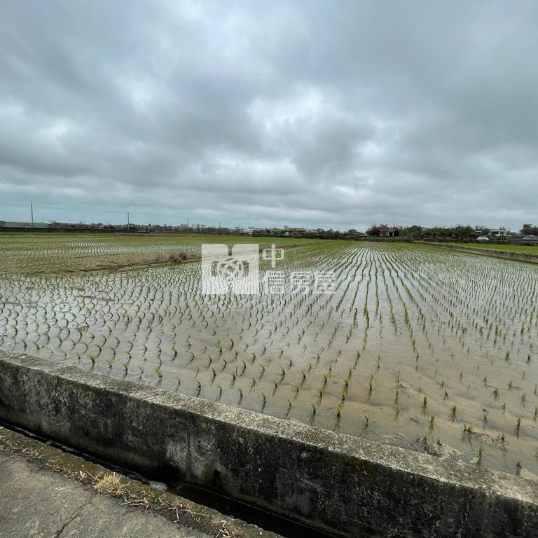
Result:
{"label": "bare grey cracked pavement in the corner, excluding the straw-littered edge", "polygon": [[0,538],[206,538],[0,451]]}

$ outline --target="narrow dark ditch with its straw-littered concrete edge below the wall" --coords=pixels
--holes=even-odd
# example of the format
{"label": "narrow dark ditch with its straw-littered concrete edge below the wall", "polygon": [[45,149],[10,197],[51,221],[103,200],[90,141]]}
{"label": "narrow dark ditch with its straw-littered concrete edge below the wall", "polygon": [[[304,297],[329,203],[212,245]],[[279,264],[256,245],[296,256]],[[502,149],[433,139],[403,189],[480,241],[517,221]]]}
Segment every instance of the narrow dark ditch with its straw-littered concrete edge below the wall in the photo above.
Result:
{"label": "narrow dark ditch with its straw-littered concrete edge below the wall", "polygon": [[[0,421],[1,450],[22,455],[27,460],[39,462],[44,469],[86,485],[95,486],[101,478],[118,476],[123,484],[120,496],[125,504],[160,513],[174,523],[202,530],[209,536],[291,538],[307,534],[309,538],[334,538],[333,534],[236,501],[214,490],[184,482],[165,484],[154,481],[153,476],[142,476],[132,469]],[[179,506],[179,511],[174,506]],[[183,517],[179,519],[178,516]]]}

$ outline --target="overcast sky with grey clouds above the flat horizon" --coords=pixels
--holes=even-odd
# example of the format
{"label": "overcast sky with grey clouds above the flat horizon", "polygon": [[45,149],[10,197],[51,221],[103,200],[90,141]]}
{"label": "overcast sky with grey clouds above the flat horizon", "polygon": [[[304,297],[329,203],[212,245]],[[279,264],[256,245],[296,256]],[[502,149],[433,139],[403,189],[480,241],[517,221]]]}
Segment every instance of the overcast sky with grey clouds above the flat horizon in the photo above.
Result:
{"label": "overcast sky with grey clouds above the flat horizon", "polygon": [[0,0],[0,220],[538,223],[535,1]]}

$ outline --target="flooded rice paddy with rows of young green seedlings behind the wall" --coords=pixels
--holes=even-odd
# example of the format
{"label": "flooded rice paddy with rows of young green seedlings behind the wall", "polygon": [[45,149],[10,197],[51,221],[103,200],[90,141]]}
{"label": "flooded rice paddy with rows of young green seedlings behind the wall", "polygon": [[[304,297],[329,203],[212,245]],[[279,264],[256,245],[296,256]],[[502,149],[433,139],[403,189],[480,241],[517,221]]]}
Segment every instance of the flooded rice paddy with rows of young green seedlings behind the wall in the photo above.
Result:
{"label": "flooded rice paddy with rows of young green seedlings behind the wall", "polygon": [[537,478],[538,266],[277,240],[260,294],[205,296],[199,260],[88,263],[200,254],[208,240],[234,242],[0,235],[0,346]]}

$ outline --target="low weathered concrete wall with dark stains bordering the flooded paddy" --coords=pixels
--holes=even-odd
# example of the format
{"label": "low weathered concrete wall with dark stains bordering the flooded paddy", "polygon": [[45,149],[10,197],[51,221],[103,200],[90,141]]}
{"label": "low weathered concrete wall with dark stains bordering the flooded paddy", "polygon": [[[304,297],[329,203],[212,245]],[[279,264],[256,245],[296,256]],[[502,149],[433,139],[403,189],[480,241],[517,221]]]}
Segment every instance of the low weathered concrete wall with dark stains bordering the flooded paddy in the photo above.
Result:
{"label": "low weathered concrete wall with dark stains bordering the flooded paddy", "polygon": [[0,418],[342,536],[538,537],[538,485],[0,351]]}

